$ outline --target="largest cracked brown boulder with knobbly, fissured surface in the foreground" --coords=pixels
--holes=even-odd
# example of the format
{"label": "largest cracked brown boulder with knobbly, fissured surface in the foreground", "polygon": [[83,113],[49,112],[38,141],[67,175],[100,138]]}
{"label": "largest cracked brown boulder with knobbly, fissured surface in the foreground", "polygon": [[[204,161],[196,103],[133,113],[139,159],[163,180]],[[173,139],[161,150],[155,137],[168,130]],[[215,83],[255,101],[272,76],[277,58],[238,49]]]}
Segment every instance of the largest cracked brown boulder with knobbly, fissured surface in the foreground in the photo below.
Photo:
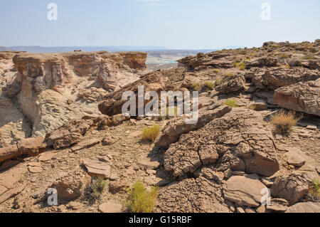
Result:
{"label": "largest cracked brown boulder with knobbly, fissured surface in the foreground", "polygon": [[255,111],[233,109],[198,131],[182,134],[164,154],[164,168],[175,177],[215,164],[227,169],[272,176],[279,170],[272,132]]}

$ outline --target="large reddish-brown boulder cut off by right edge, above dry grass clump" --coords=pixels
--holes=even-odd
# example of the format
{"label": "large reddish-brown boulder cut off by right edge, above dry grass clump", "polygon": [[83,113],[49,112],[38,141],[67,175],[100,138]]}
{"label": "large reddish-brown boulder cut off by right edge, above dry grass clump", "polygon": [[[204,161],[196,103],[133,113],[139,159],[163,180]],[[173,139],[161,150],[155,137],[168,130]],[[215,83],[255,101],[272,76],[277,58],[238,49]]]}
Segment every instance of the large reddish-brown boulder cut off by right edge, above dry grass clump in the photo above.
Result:
{"label": "large reddish-brown boulder cut off by right edge, above dry grass clump", "polygon": [[320,116],[320,78],[278,88],[274,102],[290,110]]}

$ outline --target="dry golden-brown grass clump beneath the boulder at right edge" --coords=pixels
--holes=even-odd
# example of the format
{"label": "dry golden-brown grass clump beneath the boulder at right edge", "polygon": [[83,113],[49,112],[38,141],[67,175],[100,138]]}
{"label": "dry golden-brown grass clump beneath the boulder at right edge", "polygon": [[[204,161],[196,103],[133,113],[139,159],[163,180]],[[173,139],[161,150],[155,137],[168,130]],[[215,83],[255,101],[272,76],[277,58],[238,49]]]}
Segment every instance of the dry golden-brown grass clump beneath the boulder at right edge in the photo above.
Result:
{"label": "dry golden-brown grass clump beneath the boulder at right edge", "polygon": [[302,117],[296,117],[295,112],[285,112],[281,110],[271,117],[271,123],[275,126],[275,132],[284,134],[292,131],[292,127],[294,127],[301,118]]}

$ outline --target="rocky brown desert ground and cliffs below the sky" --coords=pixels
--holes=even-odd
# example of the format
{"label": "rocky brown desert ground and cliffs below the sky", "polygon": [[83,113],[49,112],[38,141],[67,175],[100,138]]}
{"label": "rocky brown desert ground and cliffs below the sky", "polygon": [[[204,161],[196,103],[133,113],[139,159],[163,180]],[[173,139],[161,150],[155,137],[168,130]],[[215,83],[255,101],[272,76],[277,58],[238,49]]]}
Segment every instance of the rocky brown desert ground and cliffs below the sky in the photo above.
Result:
{"label": "rocky brown desert ground and cliffs below the sky", "polygon": [[[132,212],[141,181],[158,187],[154,212],[319,213],[319,49],[267,42],[154,71],[142,52],[0,52],[0,212]],[[198,91],[198,122],[122,115],[139,85]],[[289,110],[299,121],[277,131]]]}

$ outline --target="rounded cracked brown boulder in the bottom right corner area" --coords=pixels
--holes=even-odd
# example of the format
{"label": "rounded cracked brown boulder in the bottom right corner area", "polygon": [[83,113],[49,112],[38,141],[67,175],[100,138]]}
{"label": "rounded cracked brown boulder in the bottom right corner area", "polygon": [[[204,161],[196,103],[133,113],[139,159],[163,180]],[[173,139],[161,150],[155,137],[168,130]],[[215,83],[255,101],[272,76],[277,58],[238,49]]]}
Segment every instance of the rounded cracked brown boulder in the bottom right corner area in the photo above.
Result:
{"label": "rounded cracked brown boulder in the bottom right corner area", "polygon": [[271,187],[274,197],[286,199],[289,206],[299,202],[309,191],[312,178],[308,174],[289,174],[278,176]]}

